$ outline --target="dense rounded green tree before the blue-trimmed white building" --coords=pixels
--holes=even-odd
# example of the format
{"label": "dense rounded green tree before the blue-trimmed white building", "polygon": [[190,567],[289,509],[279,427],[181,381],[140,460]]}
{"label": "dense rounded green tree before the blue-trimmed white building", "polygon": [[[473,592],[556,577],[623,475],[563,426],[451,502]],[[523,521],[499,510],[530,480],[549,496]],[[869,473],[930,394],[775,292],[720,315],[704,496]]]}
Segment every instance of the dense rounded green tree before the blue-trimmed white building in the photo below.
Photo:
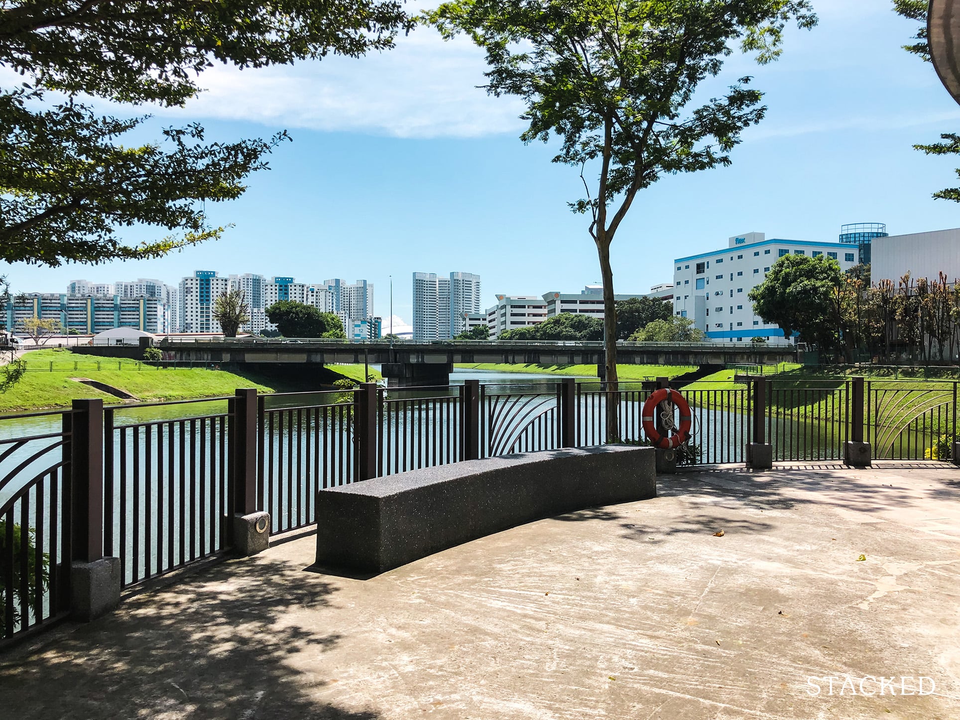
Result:
{"label": "dense rounded green tree before the blue-trimmed white building", "polygon": [[756,315],[778,325],[784,338],[796,332],[804,343],[832,345],[826,338],[834,327],[830,303],[841,276],[840,264],[827,255],[783,255],[748,297]]}

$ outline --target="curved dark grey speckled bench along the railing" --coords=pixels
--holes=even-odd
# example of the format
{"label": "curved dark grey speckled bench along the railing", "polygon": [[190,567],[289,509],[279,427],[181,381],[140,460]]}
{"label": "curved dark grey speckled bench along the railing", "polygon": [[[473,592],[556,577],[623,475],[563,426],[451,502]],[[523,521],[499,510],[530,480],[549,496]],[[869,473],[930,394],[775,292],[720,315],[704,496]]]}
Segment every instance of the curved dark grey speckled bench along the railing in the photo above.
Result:
{"label": "curved dark grey speckled bench along the railing", "polygon": [[657,495],[654,448],[468,460],[317,493],[317,564],[381,572],[531,520]]}

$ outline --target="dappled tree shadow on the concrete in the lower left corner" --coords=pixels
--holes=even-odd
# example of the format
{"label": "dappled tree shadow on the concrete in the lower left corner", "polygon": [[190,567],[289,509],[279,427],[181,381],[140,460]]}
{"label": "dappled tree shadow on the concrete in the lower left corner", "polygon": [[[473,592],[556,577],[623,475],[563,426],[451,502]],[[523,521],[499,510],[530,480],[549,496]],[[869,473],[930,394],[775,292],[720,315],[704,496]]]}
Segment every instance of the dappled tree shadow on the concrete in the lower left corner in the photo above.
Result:
{"label": "dappled tree shadow on the concrete in the lower left corner", "polygon": [[256,562],[219,564],[176,588],[128,598],[120,611],[32,654],[13,649],[0,657],[3,715],[379,718],[312,701],[310,688],[326,681],[286,662],[342,639],[297,622],[301,612],[329,606],[336,588],[298,564],[275,561],[270,575],[237,566]]}

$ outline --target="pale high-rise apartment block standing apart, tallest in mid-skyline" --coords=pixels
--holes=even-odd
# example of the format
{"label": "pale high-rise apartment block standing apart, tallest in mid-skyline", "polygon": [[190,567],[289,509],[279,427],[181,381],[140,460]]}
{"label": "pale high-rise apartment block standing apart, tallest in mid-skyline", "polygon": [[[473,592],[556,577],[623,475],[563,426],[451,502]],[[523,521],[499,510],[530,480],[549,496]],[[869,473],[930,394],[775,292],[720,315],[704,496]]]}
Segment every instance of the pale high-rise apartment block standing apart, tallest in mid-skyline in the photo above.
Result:
{"label": "pale high-rise apartment block standing apart, tallest in mid-skyline", "polygon": [[414,273],[414,340],[445,340],[467,329],[468,313],[480,312],[480,276]]}

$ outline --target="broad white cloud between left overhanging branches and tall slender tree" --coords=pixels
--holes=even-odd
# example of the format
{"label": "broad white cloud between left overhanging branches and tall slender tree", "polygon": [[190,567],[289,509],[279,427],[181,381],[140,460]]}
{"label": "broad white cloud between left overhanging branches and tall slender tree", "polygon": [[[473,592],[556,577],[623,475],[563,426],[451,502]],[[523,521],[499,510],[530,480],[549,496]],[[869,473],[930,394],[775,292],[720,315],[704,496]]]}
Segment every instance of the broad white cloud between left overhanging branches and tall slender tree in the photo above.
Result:
{"label": "broad white cloud between left overhanging branches and tall slender tree", "polygon": [[200,76],[206,91],[185,108],[154,112],[398,137],[518,132],[520,103],[477,87],[485,67],[482,52],[467,39],[444,42],[420,29],[398,38],[394,50],[358,60],[244,71],[218,65]]}

